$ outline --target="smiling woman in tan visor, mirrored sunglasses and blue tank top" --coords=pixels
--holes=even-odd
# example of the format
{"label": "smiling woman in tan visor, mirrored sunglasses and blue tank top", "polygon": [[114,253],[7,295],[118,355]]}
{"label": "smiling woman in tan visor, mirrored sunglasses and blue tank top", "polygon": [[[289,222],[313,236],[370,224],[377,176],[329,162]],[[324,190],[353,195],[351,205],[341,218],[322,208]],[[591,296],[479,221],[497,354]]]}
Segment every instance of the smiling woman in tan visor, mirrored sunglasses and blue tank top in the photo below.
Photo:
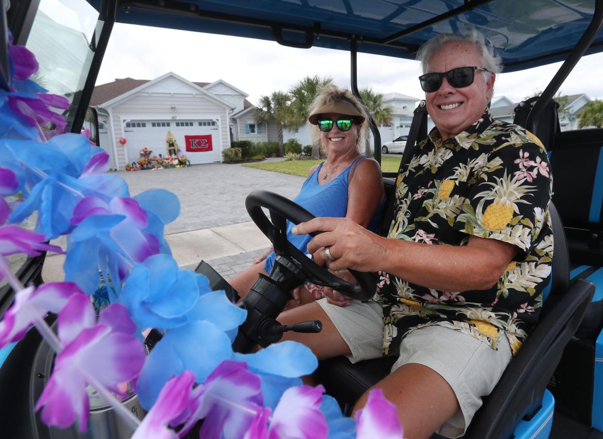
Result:
{"label": "smiling woman in tan visor, mirrored sunglasses and blue tank top", "polygon": [[[360,154],[368,135],[368,116],[364,108],[347,89],[330,84],[314,99],[308,120],[312,125],[312,140],[320,140],[327,159],[308,172],[300,193],[293,199],[317,217],[346,217],[371,231],[377,232],[379,216],[385,201],[379,163]],[[291,233],[288,222],[287,238],[306,253],[309,235]],[[276,255],[271,249],[247,270],[230,279],[230,285],[243,297],[257,280],[259,273],[268,275]],[[295,307],[323,297],[322,287],[306,282],[297,288]]]}

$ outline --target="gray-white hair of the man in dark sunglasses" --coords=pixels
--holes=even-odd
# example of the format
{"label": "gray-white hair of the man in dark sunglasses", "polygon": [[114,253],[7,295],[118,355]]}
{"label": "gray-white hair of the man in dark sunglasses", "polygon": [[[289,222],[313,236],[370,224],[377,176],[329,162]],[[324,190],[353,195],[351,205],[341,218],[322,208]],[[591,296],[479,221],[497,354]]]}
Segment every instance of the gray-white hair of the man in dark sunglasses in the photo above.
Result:
{"label": "gray-white hair of the man in dark sunglasses", "polygon": [[432,38],[417,52],[417,60],[421,61],[421,69],[423,73],[427,73],[429,60],[434,55],[435,51],[440,48],[440,46],[446,43],[471,43],[477,49],[482,58],[482,66],[489,72],[492,72],[493,75],[500,73],[502,71],[502,60],[498,55],[494,54],[494,48],[487,41],[482,33],[480,33],[473,26],[469,26],[464,33],[461,34],[440,34],[437,37]]}

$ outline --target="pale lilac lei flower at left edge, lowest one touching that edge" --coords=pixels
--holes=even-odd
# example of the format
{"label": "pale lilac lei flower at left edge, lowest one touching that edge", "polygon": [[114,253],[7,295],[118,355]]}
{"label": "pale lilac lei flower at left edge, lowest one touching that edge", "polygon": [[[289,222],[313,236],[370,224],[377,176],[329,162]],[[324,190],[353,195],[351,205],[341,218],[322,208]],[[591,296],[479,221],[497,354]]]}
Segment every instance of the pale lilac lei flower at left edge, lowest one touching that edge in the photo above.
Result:
{"label": "pale lilac lei flower at left edge, lowest one touching that edge", "polygon": [[48,283],[37,289],[27,287],[18,291],[14,304],[0,321],[0,348],[21,340],[34,320],[43,319],[49,312],[57,314],[69,297],[77,293],[81,294],[81,290],[72,282]]}

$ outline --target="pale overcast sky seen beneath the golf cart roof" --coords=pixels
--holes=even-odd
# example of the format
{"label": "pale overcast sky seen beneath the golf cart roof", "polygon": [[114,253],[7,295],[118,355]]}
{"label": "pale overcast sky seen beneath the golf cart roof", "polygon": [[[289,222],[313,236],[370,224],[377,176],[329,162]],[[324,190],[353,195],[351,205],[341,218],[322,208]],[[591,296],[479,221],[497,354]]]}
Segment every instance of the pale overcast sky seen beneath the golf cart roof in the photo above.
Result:
{"label": "pale overcast sky seen beneath the golf cart roof", "polygon": [[[520,101],[537,89],[544,90],[560,65],[502,73],[494,95]],[[561,92],[603,98],[602,67],[603,53],[582,58]],[[332,49],[292,49],[265,40],[116,23],[96,84],[128,76],[154,79],[169,71],[195,82],[223,79],[257,104],[260,96],[286,91],[306,75],[332,76],[339,86],[349,87],[350,57],[348,52]],[[359,87],[423,98],[418,75],[417,61],[358,54]]]}

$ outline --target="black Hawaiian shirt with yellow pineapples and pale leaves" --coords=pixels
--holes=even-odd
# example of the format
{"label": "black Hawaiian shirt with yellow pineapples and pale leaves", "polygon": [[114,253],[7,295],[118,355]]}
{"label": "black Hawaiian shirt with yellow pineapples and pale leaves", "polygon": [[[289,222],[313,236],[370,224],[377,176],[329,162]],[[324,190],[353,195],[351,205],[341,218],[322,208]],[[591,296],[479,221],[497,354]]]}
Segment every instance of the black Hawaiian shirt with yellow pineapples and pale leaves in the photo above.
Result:
{"label": "black Hawaiian shirt with yellow pineapples and pale leaves", "polygon": [[397,355],[414,329],[440,325],[496,349],[506,336],[513,354],[538,320],[551,276],[552,179],[544,146],[531,132],[493,120],[490,111],[461,134],[441,140],[437,128],[418,145],[396,181],[388,237],[464,246],[470,235],[519,248],[488,290],[438,291],[379,273],[384,355]]}

